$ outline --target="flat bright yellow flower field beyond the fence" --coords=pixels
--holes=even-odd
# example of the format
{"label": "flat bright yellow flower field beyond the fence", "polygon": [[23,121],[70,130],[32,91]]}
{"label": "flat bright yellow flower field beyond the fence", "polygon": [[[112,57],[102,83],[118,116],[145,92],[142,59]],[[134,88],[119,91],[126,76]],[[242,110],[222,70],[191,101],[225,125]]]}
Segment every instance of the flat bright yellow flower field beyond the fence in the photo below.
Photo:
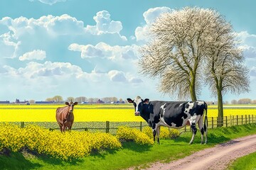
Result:
{"label": "flat bright yellow flower field beyond the fence", "polygon": [[[1,105],[1,122],[55,122],[56,108],[64,105]],[[74,109],[76,122],[140,122],[134,115],[134,106],[128,105],[78,105]],[[256,108],[225,108],[224,116],[256,115]],[[208,107],[208,117],[218,117],[218,109]]]}

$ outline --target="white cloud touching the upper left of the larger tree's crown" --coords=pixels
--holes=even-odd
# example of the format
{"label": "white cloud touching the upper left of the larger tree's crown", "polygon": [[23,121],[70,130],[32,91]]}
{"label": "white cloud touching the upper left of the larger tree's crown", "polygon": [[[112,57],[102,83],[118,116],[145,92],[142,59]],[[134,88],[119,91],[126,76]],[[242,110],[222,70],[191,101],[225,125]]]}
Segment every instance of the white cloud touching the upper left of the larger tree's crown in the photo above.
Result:
{"label": "white cloud touching the upper left of the larger tree's crown", "polygon": [[135,36],[137,38],[137,41],[146,40],[146,34],[149,32],[149,26],[151,25],[151,23],[153,23],[155,19],[161,15],[161,13],[166,13],[170,11],[171,11],[171,8],[163,6],[163,7],[149,8],[148,11],[144,12],[143,16],[144,16],[144,20],[146,21],[146,24],[142,27],[136,28]]}

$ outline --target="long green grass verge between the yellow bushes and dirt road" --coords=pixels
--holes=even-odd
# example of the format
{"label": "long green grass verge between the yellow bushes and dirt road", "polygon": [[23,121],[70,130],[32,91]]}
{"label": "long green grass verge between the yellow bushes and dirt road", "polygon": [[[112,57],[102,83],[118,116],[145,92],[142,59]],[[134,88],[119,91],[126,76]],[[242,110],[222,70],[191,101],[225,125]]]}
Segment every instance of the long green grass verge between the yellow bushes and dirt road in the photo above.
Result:
{"label": "long green grass verge between the yellow bushes and dirt road", "polygon": [[200,133],[193,145],[188,145],[191,132],[184,132],[176,140],[160,140],[161,145],[152,147],[125,142],[119,150],[95,153],[73,162],[62,162],[46,156],[11,153],[0,155],[0,169],[125,169],[129,166],[144,168],[156,161],[170,162],[186,157],[198,150],[213,147],[228,140],[256,133],[256,124],[239,125],[229,128],[215,128],[208,132],[208,145],[200,145]]}

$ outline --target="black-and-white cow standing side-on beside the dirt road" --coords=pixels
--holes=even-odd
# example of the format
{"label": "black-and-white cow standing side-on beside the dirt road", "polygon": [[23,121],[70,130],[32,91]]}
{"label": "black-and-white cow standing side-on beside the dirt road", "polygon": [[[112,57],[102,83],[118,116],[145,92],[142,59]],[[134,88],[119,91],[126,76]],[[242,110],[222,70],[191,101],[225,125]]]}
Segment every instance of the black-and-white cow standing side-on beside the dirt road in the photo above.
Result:
{"label": "black-and-white cow standing side-on beside the dirt road", "polygon": [[[206,135],[205,143],[207,143],[208,118],[205,101],[149,101],[148,98],[143,100],[140,96],[134,100],[127,98],[127,101],[134,104],[135,115],[142,116],[152,128],[154,141],[157,137],[158,144],[160,144],[161,126],[179,129],[186,125],[191,125],[193,135],[189,144],[192,144],[197,132],[197,123],[201,131],[201,144],[203,144],[204,133]],[[203,125],[204,113],[206,115]]]}

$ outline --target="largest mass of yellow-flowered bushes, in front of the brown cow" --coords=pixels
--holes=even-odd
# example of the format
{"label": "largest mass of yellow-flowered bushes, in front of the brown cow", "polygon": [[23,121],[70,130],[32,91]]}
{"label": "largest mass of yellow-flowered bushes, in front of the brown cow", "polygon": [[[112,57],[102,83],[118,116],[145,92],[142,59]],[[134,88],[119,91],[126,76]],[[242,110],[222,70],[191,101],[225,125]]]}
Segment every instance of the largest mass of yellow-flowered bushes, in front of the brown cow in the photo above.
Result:
{"label": "largest mass of yellow-flowered bushes, in front of the brown cow", "polygon": [[0,124],[0,150],[18,152],[26,148],[62,160],[78,159],[92,151],[119,149],[117,137],[106,133],[50,131],[36,125],[19,128],[17,125]]}

